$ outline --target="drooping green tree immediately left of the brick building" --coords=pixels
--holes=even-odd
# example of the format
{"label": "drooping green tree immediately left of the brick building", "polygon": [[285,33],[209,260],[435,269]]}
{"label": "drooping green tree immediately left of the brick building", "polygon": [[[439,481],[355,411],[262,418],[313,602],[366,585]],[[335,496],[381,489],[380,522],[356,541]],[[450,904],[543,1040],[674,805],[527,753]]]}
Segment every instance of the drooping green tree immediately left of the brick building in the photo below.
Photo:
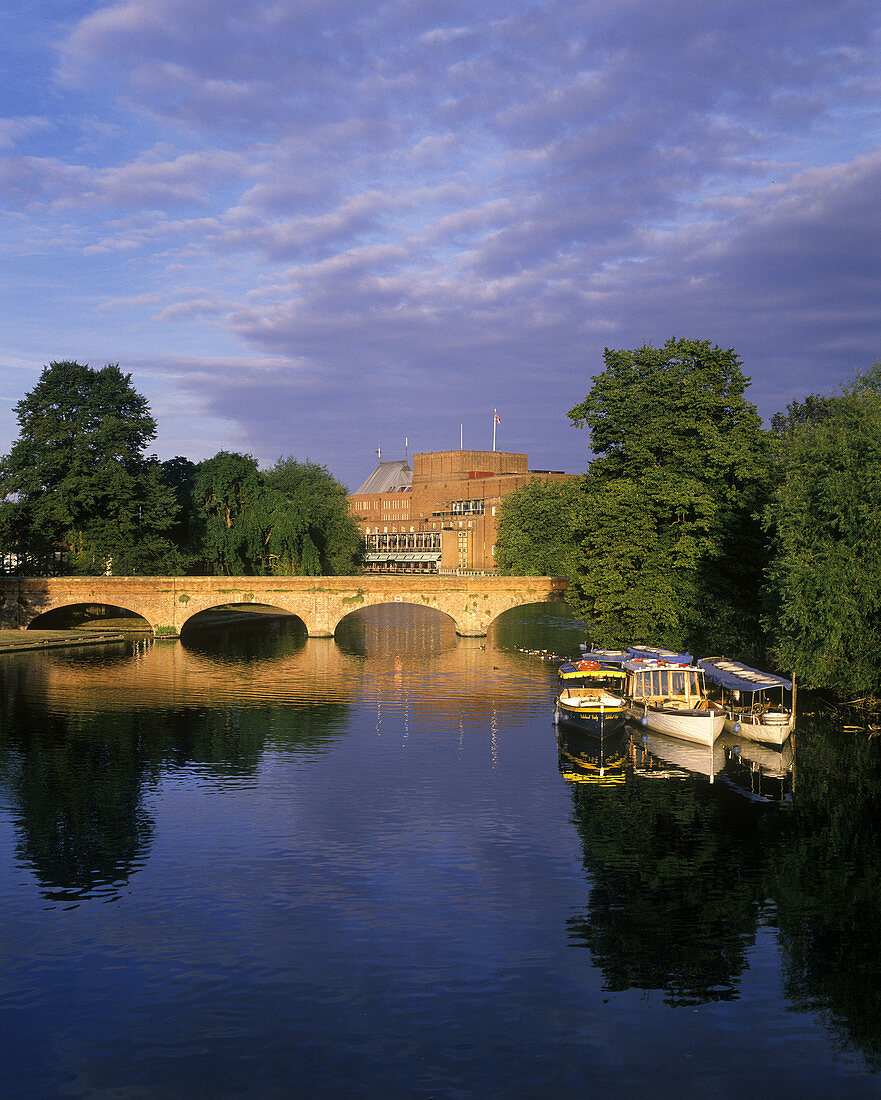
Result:
{"label": "drooping green tree immediately left of the brick building", "polygon": [[272,572],[315,576],[357,571],[361,531],[349,512],[345,486],[327,466],[279,458],[264,480],[272,494]]}

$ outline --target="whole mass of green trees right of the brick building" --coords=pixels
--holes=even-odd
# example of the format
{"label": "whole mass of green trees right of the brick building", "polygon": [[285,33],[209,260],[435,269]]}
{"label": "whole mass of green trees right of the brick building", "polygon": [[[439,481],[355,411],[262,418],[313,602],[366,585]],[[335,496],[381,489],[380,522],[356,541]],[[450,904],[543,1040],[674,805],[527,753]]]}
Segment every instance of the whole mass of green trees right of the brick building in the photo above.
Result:
{"label": "whole mass of green trees right of the brick building", "polygon": [[505,498],[503,572],[559,574],[603,647],[771,662],[881,693],[881,362],[764,428],[734,349],[610,350],[584,475]]}

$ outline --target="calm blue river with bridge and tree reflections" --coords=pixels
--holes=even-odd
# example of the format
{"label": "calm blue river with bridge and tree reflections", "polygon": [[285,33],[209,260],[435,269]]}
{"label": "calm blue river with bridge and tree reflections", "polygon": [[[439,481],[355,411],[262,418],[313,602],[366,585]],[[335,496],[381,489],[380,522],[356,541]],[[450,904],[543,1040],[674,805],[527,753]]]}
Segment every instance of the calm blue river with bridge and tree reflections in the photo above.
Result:
{"label": "calm blue river with bridge and tree reflections", "polygon": [[343,627],[0,660],[4,1097],[881,1092],[881,738],[601,772],[553,612]]}

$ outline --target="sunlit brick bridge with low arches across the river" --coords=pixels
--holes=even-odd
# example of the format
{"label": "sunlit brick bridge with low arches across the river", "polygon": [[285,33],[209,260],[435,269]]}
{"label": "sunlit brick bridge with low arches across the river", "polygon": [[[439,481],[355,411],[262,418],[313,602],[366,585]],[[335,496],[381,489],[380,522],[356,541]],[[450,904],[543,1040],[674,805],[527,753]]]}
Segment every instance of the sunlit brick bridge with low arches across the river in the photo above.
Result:
{"label": "sunlit brick bridge with low arches across the river", "polygon": [[58,607],[107,604],[142,615],[156,634],[178,634],[198,612],[258,604],[296,615],[312,638],[328,638],[350,612],[398,603],[442,612],[456,634],[480,637],[503,612],[562,600],[566,588],[551,576],[4,576],[0,628],[36,626]]}

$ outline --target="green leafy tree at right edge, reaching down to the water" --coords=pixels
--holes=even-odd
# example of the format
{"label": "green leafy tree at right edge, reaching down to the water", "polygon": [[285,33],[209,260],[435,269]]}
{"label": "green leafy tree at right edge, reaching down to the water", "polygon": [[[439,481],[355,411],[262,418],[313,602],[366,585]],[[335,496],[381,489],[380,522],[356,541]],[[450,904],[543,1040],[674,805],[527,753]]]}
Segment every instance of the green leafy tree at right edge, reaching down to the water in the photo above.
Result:
{"label": "green leafy tree at right edge, reaching down to the water", "polygon": [[881,364],[792,426],[767,510],[778,661],[805,686],[881,692]]}

